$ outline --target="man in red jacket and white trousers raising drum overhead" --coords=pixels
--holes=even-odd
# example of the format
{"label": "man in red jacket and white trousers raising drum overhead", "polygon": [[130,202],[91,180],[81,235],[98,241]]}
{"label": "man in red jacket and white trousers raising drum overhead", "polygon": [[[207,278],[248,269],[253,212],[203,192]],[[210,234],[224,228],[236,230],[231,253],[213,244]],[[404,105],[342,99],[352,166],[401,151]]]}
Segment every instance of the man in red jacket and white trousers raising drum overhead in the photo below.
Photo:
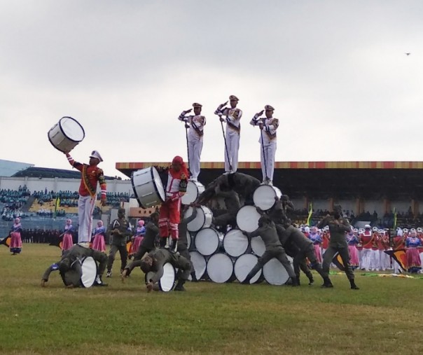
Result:
{"label": "man in red jacket and white trousers raising drum overhead", "polygon": [[106,204],[106,179],[104,179],[103,170],[97,167],[103,159],[99,152],[92,151],[90,164],[87,165],[76,162],[69,153],[65,154],[69,164],[81,172],[81,185],[78,190],[78,244],[88,248],[92,232],[92,213],[97,199],[97,183],[100,184],[102,193],[102,206]]}

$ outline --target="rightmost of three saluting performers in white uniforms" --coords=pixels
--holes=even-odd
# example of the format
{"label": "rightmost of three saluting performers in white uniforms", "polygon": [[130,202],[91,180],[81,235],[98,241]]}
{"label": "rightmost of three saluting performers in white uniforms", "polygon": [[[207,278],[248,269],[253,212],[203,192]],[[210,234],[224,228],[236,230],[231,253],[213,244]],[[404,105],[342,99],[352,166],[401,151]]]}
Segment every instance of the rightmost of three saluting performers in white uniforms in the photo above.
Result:
{"label": "rightmost of three saluting performers in white uniforms", "polygon": [[261,137],[258,140],[261,144],[261,172],[263,183],[273,185],[273,170],[275,169],[276,153],[276,130],[279,127],[279,120],[273,118],[272,106],[265,106],[265,116],[260,117],[263,111],[256,113],[250,121],[251,125],[260,127]]}

